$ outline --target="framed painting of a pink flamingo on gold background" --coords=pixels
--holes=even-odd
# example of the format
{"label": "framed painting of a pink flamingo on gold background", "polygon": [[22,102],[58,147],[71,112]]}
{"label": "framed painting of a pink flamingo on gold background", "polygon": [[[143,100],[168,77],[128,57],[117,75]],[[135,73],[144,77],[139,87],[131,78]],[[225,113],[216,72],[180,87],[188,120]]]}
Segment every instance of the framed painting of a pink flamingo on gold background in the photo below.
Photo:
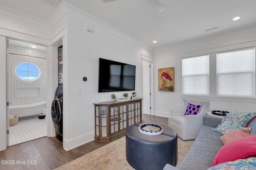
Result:
{"label": "framed painting of a pink flamingo on gold background", "polygon": [[174,67],[158,68],[158,91],[174,92]]}

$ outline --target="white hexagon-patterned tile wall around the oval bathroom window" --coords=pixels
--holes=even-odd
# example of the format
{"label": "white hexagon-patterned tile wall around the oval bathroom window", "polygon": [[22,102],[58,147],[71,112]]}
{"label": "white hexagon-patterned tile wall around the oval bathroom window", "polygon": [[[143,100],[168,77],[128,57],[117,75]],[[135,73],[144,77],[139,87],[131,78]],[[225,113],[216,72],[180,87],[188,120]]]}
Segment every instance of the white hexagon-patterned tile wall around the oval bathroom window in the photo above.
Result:
{"label": "white hexagon-patterned tile wall around the oval bathroom window", "polygon": [[[46,51],[9,45],[9,98],[10,106],[32,104],[46,100]],[[20,60],[40,64],[43,69],[42,79],[35,83],[23,83],[12,75],[12,66]]]}

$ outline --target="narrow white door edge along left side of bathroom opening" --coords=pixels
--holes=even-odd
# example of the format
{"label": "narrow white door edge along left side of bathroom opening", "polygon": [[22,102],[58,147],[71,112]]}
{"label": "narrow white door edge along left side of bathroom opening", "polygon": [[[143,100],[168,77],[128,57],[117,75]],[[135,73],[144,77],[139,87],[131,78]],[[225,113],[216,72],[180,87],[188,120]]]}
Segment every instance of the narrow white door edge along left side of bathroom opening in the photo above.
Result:
{"label": "narrow white door edge along left side of bathroom opening", "polygon": [[6,76],[6,101],[7,101],[7,108],[6,108],[6,122],[7,122],[7,146],[9,145],[9,39],[6,39],[6,72],[7,72],[7,76]]}

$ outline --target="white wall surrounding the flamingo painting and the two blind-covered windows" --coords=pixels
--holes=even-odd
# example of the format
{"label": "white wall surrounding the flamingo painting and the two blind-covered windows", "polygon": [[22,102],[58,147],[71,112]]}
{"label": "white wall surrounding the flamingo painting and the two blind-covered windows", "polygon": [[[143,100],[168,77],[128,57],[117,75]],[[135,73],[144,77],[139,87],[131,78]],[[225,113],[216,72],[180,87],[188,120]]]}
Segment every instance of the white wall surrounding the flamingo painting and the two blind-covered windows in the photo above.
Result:
{"label": "white wall surrounding the flamingo painting and the two blind-covered windows", "polygon": [[[194,39],[188,42],[177,43],[174,45],[159,47],[155,49],[155,80],[157,80],[158,78],[158,68],[174,67],[175,85],[174,92],[158,92],[158,82],[154,82],[154,115],[169,117],[171,109],[179,109],[183,106],[182,98],[190,97],[181,95],[181,57],[190,57],[230,49],[252,47],[255,45],[256,25],[250,25],[250,27],[244,27],[221,34],[216,34],[200,39]],[[210,101],[209,111],[256,111],[256,100],[220,100],[219,98],[216,98],[214,96],[201,98]]]}

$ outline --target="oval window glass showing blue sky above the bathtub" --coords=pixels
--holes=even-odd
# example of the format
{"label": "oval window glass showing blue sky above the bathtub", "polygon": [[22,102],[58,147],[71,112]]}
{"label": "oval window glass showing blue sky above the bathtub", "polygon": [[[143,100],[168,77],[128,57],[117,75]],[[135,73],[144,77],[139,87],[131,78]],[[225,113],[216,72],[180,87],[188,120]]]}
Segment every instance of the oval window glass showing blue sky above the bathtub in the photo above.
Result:
{"label": "oval window glass showing blue sky above the bathtub", "polygon": [[22,62],[16,66],[15,73],[21,80],[34,81],[40,77],[41,71],[34,63]]}

